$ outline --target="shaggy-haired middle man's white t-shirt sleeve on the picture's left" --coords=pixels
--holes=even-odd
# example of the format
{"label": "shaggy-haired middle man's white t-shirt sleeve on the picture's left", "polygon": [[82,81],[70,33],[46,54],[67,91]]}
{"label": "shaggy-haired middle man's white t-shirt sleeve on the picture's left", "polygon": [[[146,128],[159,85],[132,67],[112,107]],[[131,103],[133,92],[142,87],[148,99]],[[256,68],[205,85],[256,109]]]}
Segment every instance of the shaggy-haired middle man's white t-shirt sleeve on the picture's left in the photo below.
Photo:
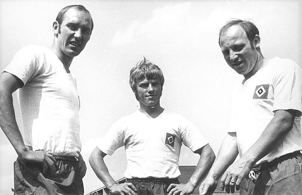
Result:
{"label": "shaggy-haired middle man's white t-shirt sleeve on the picture's left", "polygon": [[112,155],[117,148],[124,145],[124,120],[120,119],[116,121],[106,132],[106,134],[100,138],[97,147],[105,154]]}

